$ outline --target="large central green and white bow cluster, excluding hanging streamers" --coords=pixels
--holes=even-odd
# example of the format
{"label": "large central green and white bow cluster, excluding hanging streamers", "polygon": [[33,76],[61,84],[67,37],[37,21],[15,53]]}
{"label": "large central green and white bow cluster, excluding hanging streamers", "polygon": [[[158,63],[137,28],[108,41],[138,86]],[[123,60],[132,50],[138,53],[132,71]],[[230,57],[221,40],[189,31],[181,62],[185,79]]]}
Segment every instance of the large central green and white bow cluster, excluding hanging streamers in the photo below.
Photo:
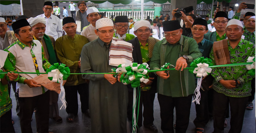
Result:
{"label": "large central green and white bow cluster, excluding hanging streamers", "polygon": [[121,75],[120,81],[124,85],[128,85],[131,83],[131,86],[134,88],[139,87],[140,82],[147,83],[149,81],[149,77],[147,75],[149,67],[147,63],[131,63],[131,66],[125,63],[120,64],[116,69],[116,73],[123,73]]}

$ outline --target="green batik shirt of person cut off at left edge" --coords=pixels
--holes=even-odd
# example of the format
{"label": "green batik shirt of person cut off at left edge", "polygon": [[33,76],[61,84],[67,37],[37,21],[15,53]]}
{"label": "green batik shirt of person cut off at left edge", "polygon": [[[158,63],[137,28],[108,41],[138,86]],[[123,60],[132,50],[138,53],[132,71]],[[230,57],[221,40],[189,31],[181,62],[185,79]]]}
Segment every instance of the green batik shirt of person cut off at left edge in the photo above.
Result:
{"label": "green batik shirt of person cut off at left edge", "polygon": [[[7,72],[9,71],[16,71],[10,60],[7,58],[4,62],[4,70]],[[6,75],[6,79],[10,81],[9,77]],[[19,77],[15,80],[17,81]],[[8,85],[3,85],[0,81],[0,117],[3,116],[6,112],[12,109],[12,99],[8,93]]]}

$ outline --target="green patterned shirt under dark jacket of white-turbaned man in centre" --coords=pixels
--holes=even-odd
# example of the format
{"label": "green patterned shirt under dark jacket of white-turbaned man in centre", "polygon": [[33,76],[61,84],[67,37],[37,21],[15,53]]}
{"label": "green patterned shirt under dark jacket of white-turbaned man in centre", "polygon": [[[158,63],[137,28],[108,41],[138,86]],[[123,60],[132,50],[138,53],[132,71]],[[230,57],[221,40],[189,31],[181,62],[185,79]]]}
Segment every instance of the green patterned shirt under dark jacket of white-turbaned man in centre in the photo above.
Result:
{"label": "green patterned shirt under dark jacket of white-turbaned man in centre", "polygon": [[[141,52],[141,55],[142,55],[142,62],[143,63],[148,62],[151,59],[151,58],[149,58],[148,43],[145,46],[143,46],[140,43],[140,52]],[[145,86],[145,87],[142,88],[142,91],[147,91],[147,90],[150,90],[150,89],[151,89],[151,86]]]}

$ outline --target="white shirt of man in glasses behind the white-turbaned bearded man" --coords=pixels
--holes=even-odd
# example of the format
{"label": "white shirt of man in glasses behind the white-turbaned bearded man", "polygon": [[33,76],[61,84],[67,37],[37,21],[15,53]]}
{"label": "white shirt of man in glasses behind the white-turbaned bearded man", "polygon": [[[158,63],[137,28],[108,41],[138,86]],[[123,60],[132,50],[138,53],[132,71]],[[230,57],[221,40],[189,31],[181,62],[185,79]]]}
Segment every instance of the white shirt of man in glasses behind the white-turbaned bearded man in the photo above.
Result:
{"label": "white shirt of man in glasses behind the white-turbaned bearded man", "polygon": [[60,22],[59,17],[52,15],[47,18],[45,14],[41,14],[36,16],[37,17],[44,17],[46,21],[46,27],[45,27],[45,34],[52,36],[55,40],[57,40],[59,37],[62,36],[62,24]]}

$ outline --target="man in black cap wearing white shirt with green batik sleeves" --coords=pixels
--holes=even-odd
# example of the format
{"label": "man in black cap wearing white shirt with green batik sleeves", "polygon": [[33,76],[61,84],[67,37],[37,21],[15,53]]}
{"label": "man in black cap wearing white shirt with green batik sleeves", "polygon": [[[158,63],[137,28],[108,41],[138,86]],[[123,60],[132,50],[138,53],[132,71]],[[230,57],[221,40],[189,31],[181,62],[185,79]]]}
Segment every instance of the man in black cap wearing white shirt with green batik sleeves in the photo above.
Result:
{"label": "man in black cap wearing white shirt with green batik sleeves", "polygon": [[[12,66],[18,72],[45,73],[51,64],[44,58],[44,49],[38,40],[33,40],[33,31],[26,19],[12,24],[18,40],[5,48]],[[33,80],[39,74],[19,74],[16,89],[19,92],[20,128],[22,133],[32,133],[31,118],[35,109],[38,133],[48,133],[50,93],[38,87]]]}

